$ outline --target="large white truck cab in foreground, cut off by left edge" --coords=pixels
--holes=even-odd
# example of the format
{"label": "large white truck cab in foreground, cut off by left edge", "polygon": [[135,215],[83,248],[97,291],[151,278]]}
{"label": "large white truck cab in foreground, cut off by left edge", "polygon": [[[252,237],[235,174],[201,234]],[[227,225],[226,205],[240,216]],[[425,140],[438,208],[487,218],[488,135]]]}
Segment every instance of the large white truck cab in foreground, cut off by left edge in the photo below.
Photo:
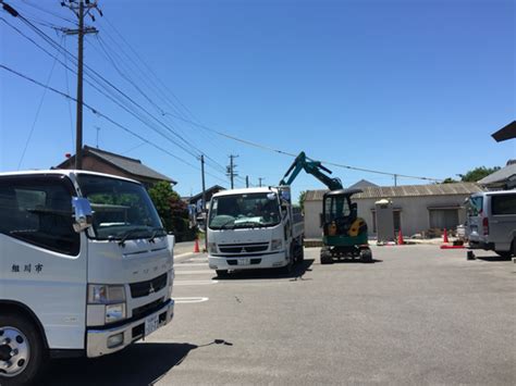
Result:
{"label": "large white truck cab in foreground, cut off by left edge", "polygon": [[138,182],[0,174],[0,384],[109,354],[173,317],[173,236]]}

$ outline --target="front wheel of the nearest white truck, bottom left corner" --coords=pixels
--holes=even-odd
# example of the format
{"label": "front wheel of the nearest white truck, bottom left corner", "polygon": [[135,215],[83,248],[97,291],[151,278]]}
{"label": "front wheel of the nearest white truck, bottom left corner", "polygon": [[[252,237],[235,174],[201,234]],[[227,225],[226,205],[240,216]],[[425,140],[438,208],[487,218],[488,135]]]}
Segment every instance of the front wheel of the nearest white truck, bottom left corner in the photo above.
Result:
{"label": "front wheel of the nearest white truck, bottom left corner", "polygon": [[25,385],[42,368],[45,347],[34,323],[19,315],[0,315],[0,385]]}

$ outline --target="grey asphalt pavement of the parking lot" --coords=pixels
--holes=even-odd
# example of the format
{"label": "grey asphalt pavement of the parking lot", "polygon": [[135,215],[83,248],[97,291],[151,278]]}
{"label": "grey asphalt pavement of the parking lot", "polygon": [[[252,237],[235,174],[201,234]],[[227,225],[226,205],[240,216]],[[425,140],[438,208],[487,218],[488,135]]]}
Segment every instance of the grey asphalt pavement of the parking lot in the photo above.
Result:
{"label": "grey asphalt pavement of the parking lot", "polygon": [[97,360],[54,361],[49,385],[516,384],[516,264],[437,246],[373,248],[374,263],[219,279],[175,261],[173,322]]}

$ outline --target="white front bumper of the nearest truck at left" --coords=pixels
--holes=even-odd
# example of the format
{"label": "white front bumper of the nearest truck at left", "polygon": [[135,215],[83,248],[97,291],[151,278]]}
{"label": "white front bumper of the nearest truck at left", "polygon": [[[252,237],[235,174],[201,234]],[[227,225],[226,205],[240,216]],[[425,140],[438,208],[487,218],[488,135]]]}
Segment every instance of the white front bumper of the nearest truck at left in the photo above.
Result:
{"label": "white front bumper of the nearest truck at left", "polygon": [[[86,354],[88,358],[101,357],[108,353],[120,351],[127,347],[132,343],[140,339],[145,335],[145,320],[151,316],[158,315],[159,327],[161,328],[165,324],[172,321],[174,316],[174,300],[169,299],[163,306],[145,317],[136,321],[130,321],[121,326],[106,328],[106,329],[88,329],[86,332]],[[123,334],[124,338],[121,345],[109,348],[108,338]]]}

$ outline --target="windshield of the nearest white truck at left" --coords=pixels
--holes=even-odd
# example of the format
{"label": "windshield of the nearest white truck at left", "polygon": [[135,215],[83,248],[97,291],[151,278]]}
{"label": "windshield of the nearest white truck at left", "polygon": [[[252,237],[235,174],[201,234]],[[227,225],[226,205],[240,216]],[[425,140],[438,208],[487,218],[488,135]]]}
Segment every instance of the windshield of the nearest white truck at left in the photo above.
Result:
{"label": "windshield of the nearest white truck at left", "polygon": [[97,239],[130,239],[165,234],[145,188],[128,180],[79,174],[78,185],[94,211]]}

